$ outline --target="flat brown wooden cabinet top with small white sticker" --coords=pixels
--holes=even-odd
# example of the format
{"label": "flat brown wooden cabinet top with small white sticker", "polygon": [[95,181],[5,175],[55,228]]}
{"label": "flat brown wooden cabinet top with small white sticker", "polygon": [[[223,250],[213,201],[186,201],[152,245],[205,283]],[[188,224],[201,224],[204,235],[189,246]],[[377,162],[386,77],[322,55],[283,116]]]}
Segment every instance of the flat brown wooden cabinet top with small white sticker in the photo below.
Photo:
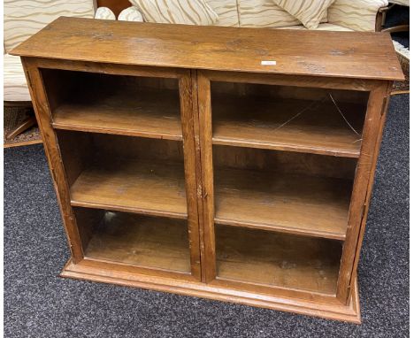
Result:
{"label": "flat brown wooden cabinet top with small white sticker", "polygon": [[[403,80],[388,34],[60,17],[12,55],[123,65]],[[276,61],[276,65],[262,65]]]}

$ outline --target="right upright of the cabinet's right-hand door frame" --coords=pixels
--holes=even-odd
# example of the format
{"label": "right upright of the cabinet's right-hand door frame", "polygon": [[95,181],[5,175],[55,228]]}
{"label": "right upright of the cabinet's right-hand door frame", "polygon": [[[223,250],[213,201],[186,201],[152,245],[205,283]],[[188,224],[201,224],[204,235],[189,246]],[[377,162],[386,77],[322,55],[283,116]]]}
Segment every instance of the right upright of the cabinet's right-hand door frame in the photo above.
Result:
{"label": "right upright of the cabinet's right-hand door frame", "polygon": [[349,207],[346,241],[343,246],[337,297],[342,303],[349,301],[349,290],[364,233],[364,215],[372,190],[373,174],[378,158],[378,140],[384,124],[383,109],[387,100],[388,82],[371,91],[364,123],[361,156],[357,164],[356,179]]}

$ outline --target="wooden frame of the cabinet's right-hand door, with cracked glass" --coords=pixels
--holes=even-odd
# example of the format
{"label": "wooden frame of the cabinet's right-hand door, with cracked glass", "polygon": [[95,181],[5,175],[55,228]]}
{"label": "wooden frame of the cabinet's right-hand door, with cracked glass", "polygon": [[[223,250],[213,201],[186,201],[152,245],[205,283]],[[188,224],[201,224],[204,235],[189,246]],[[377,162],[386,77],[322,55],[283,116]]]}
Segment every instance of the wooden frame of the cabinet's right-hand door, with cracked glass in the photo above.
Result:
{"label": "wooden frame of the cabinet's right-hand door, with cracked glass", "polygon": [[[215,224],[214,224],[214,173],[212,159],[212,120],[211,120],[211,81],[233,81],[261,83],[268,85],[286,85],[310,88],[333,88],[369,91],[369,99],[365,116],[361,156],[357,162],[356,178],[349,206],[349,227],[346,240],[343,242],[338,288],[335,301],[349,304],[351,288],[356,285],[357,261],[364,234],[366,214],[372,192],[372,181],[376,160],[380,150],[380,139],[375,137],[384,126],[384,104],[389,94],[391,82],[356,79],[336,79],[323,77],[306,77],[290,75],[230,73],[215,71],[197,71],[199,140],[201,156],[201,179],[203,192],[203,276],[204,282],[220,284],[216,275]],[[237,283],[239,286],[241,283]],[[246,283],[248,284],[248,283]],[[257,288],[256,288],[257,290]],[[274,287],[275,292],[279,292]],[[280,290],[283,292],[282,290]],[[303,291],[303,295],[310,292]],[[298,293],[300,294],[300,292]],[[332,302],[329,296],[321,299]]]}

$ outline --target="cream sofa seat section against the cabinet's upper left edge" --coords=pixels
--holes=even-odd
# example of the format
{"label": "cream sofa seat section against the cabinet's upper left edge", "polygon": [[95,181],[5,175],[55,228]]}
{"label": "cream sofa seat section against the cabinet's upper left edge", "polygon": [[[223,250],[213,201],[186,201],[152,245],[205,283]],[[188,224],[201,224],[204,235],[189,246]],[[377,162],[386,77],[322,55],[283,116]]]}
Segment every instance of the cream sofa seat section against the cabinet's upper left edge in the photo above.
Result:
{"label": "cream sofa seat section against the cabinet's upper left edge", "polygon": [[20,58],[4,55],[4,101],[30,101],[27,81]]}

